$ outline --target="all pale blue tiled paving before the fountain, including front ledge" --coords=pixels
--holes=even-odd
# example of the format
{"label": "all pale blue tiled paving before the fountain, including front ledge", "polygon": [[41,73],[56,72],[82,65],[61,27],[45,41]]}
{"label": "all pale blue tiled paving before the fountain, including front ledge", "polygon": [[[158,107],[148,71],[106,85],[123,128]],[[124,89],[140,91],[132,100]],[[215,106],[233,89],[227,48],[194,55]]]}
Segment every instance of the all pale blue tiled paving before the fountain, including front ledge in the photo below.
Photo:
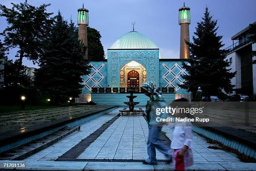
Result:
{"label": "all pale blue tiled paving before the fountain, including front ledge", "polygon": [[[161,162],[153,166],[139,162],[49,161],[57,159],[112,119],[118,114],[119,109],[85,122],[81,125],[80,132],[67,136],[23,161],[0,161],[0,169],[3,169],[4,162],[24,162],[27,170],[172,170],[172,164]],[[172,130],[164,126],[163,131],[172,140]],[[146,159],[147,136],[148,126],[143,116],[120,116],[82,152],[78,159]],[[205,138],[193,133],[194,165],[188,170],[256,170],[256,164],[242,163],[233,153],[208,149],[207,146],[210,145],[212,144],[207,143]],[[165,159],[158,151],[156,157]]]}

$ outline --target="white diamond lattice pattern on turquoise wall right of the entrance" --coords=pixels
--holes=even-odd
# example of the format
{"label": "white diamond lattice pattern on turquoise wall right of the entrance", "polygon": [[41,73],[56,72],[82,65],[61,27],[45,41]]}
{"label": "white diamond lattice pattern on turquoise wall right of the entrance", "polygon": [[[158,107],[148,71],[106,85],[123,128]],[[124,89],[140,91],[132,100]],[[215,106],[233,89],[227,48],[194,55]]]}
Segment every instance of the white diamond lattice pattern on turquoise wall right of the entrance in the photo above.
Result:
{"label": "white diamond lattice pattern on turquoise wall right of the entrance", "polygon": [[188,75],[188,73],[177,63],[170,68],[165,63],[163,63],[162,66],[167,70],[167,72],[162,76],[162,78],[167,82],[165,87],[174,87],[175,91],[178,91],[180,89],[178,84],[183,84],[184,81],[180,76],[182,74]]}

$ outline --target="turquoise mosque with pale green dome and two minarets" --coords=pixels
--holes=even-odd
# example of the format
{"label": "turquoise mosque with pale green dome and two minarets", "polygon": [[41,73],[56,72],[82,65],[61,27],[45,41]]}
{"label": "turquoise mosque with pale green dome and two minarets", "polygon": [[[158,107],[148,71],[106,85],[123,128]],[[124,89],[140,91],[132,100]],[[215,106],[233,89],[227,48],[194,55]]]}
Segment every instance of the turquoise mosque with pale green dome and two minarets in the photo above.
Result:
{"label": "turquoise mosque with pale green dome and two minarets", "polygon": [[[191,93],[181,89],[182,75],[188,74],[182,68],[182,60],[189,58],[184,40],[189,41],[190,8],[179,8],[180,57],[162,59],[159,47],[146,35],[133,31],[122,35],[107,51],[107,59],[90,59],[89,75],[82,76],[83,88],[76,103],[95,102],[102,105],[124,105],[129,87],[135,87],[136,101],[145,105],[148,97],[141,92],[146,81],[153,81],[161,90],[166,101],[177,97],[191,99]],[[79,40],[87,46],[87,26],[89,10],[78,10]],[[87,53],[84,56],[87,59]]]}

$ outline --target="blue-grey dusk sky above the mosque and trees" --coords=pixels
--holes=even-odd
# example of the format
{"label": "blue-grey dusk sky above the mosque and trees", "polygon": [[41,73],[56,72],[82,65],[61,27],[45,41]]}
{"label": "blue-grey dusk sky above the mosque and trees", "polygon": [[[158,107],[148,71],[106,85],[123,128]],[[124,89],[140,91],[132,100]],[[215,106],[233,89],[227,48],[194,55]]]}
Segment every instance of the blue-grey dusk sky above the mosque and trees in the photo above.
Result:
{"label": "blue-grey dusk sky above the mosque and trees", "polygon": [[[24,0],[1,0],[1,4],[12,7],[10,2],[20,3]],[[89,10],[89,26],[97,29],[102,38],[105,50],[125,33],[132,31],[131,22],[136,21],[135,31],[150,38],[160,49],[163,58],[179,58],[180,27],[178,10],[183,7],[183,0],[28,0],[28,3],[39,6],[51,3],[47,12],[60,10],[64,19],[70,17],[76,22],[77,9],[84,7]],[[230,39],[237,32],[256,20],[256,0],[186,0],[190,7],[191,24],[189,25],[190,40],[195,32],[197,21],[201,20],[205,7],[218,20],[218,35],[223,35],[224,47],[232,44]],[[0,17],[0,32],[7,23]],[[61,34],[61,33],[60,33]],[[3,41],[3,37],[0,38]],[[210,42],[209,42],[210,45]],[[9,59],[17,59],[15,50],[10,51]],[[23,59],[28,67],[37,67],[31,61]]]}

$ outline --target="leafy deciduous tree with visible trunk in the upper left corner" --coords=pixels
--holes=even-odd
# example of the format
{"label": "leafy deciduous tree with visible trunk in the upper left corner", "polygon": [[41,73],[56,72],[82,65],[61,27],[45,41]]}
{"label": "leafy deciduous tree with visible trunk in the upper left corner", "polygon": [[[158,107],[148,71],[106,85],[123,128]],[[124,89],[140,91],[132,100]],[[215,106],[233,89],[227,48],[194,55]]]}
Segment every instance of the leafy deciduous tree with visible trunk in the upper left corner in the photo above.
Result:
{"label": "leafy deciduous tree with visible trunk in the upper left corner", "polygon": [[42,52],[41,42],[47,37],[49,25],[53,22],[50,17],[52,13],[46,12],[50,4],[43,4],[40,7],[29,5],[27,0],[24,3],[14,4],[12,8],[0,5],[0,16],[6,17],[8,27],[3,30],[5,46],[9,48],[18,47],[16,57],[18,67],[16,76],[22,71],[22,59],[26,57],[36,62],[38,55]]}

